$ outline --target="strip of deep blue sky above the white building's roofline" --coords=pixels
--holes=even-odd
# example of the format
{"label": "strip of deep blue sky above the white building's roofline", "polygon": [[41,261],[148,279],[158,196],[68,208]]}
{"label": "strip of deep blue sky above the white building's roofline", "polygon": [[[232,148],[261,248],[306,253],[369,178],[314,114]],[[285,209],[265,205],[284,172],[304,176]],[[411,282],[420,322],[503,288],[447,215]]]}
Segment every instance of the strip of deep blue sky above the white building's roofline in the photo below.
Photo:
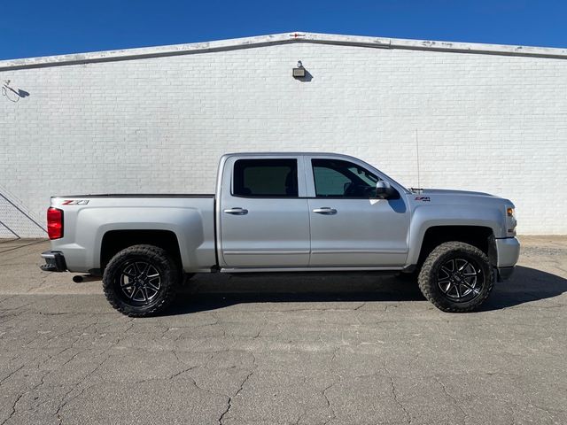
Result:
{"label": "strip of deep blue sky above the white building's roofline", "polygon": [[567,2],[5,0],[0,59],[289,31],[567,47]]}

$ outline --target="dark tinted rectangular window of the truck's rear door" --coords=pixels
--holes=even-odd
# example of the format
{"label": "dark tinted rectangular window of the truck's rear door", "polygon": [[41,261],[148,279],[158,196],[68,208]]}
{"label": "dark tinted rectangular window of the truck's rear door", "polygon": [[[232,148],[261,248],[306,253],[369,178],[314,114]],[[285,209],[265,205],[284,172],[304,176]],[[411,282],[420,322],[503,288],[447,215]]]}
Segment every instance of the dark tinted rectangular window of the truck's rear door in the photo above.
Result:
{"label": "dark tinted rectangular window of the truck's rear door", "polygon": [[298,197],[297,159],[238,159],[233,179],[237,197]]}

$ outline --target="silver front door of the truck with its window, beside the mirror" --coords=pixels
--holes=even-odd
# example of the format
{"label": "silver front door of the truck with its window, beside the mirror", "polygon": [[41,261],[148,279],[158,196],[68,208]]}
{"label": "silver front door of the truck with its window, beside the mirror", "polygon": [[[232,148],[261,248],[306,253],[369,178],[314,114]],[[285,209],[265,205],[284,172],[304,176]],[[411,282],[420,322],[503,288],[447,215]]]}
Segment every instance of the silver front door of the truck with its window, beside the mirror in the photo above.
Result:
{"label": "silver front door of the truck with its window, beside the mirror", "polygon": [[408,256],[408,205],[373,198],[375,173],[335,158],[306,158],[311,267],[403,266]]}

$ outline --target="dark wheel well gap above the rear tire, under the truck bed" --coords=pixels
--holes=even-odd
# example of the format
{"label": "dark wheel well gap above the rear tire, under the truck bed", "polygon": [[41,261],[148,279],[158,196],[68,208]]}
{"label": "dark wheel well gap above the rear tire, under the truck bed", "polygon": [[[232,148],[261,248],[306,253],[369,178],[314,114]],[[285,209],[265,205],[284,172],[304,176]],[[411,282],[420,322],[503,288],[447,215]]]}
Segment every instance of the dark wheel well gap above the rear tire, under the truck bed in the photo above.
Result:
{"label": "dark wheel well gap above the rear tire, under the truck bed", "polygon": [[118,252],[128,246],[147,244],[158,246],[167,251],[169,255],[182,268],[179,242],[175,233],[169,230],[111,230],[105,233],[100,248],[100,269],[105,270],[108,262]]}

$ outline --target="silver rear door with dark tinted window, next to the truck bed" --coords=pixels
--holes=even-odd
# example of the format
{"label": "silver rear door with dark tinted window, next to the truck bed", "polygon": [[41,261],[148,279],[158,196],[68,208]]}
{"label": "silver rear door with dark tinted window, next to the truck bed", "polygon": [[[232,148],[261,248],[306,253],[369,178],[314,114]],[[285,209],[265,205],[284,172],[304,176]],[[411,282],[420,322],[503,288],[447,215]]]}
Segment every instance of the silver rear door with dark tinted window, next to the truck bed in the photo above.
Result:
{"label": "silver rear door with dark tinted window, next to the truck bed", "polygon": [[221,266],[307,267],[309,215],[301,157],[230,157],[224,169]]}

